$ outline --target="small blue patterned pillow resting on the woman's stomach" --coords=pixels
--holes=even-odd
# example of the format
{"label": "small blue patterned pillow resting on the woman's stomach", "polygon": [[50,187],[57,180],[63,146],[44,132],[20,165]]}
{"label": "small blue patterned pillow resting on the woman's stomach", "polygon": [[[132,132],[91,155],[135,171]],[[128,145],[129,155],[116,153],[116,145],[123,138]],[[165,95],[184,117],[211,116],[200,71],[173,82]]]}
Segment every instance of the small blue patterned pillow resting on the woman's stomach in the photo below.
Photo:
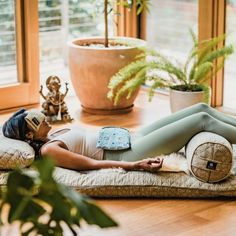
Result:
{"label": "small blue patterned pillow resting on the woman's stomach", "polygon": [[130,148],[130,133],[125,128],[104,127],[99,131],[97,148],[124,150]]}

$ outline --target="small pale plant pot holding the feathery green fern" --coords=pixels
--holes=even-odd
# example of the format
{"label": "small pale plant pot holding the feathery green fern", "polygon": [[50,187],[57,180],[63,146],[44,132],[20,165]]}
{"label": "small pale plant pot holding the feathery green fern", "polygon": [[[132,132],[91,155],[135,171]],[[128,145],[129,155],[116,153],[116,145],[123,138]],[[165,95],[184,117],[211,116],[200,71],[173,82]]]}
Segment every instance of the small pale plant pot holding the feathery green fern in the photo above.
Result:
{"label": "small pale plant pot holding the feathery green fern", "polygon": [[185,92],[170,89],[171,112],[176,112],[199,102],[204,102],[204,91]]}

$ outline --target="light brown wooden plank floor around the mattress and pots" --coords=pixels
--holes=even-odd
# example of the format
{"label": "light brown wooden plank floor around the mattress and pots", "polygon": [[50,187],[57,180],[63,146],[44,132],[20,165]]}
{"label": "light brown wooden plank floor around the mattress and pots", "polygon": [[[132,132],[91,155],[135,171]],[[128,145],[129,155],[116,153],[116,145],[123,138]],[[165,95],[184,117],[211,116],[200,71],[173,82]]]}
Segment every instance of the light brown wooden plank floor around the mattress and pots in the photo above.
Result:
{"label": "light brown wooden plank floor around the mattress and pots", "polygon": [[[134,110],[126,115],[94,116],[81,111],[76,98],[69,98],[73,125],[97,129],[120,125],[135,130],[168,114],[169,101],[164,95],[149,103],[141,91]],[[10,113],[0,115],[0,124]],[[58,126],[55,126],[57,128]],[[119,227],[101,230],[84,228],[81,236],[152,236],[152,235],[236,235],[236,202],[232,199],[104,199],[95,200],[118,223]],[[65,235],[70,235],[65,232]]]}

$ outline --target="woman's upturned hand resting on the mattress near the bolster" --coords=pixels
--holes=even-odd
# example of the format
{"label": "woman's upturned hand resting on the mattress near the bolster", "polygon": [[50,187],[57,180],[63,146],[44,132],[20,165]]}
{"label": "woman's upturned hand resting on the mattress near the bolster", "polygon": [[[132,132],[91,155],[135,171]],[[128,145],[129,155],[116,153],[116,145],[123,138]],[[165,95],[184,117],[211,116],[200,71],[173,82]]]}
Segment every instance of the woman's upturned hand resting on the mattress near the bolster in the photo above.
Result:
{"label": "woman's upturned hand resting on the mattress near the bolster", "polygon": [[156,158],[147,158],[141,161],[136,161],[134,163],[135,170],[145,170],[149,172],[157,172],[162,167],[163,159]]}

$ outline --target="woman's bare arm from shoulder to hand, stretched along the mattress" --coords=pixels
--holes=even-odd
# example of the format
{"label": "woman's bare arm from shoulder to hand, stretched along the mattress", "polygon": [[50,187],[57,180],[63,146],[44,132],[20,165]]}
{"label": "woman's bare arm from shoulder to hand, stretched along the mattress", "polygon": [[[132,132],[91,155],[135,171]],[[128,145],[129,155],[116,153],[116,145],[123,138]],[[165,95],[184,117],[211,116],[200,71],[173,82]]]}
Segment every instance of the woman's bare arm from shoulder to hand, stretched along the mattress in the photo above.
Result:
{"label": "woman's bare arm from shoulder to hand, stretched along the mattress", "polygon": [[97,170],[106,168],[123,168],[125,170],[158,171],[162,166],[159,158],[149,158],[136,162],[95,160],[77,153],[70,152],[60,146],[60,142],[46,144],[41,149],[41,155],[50,156],[56,165],[75,170]]}

